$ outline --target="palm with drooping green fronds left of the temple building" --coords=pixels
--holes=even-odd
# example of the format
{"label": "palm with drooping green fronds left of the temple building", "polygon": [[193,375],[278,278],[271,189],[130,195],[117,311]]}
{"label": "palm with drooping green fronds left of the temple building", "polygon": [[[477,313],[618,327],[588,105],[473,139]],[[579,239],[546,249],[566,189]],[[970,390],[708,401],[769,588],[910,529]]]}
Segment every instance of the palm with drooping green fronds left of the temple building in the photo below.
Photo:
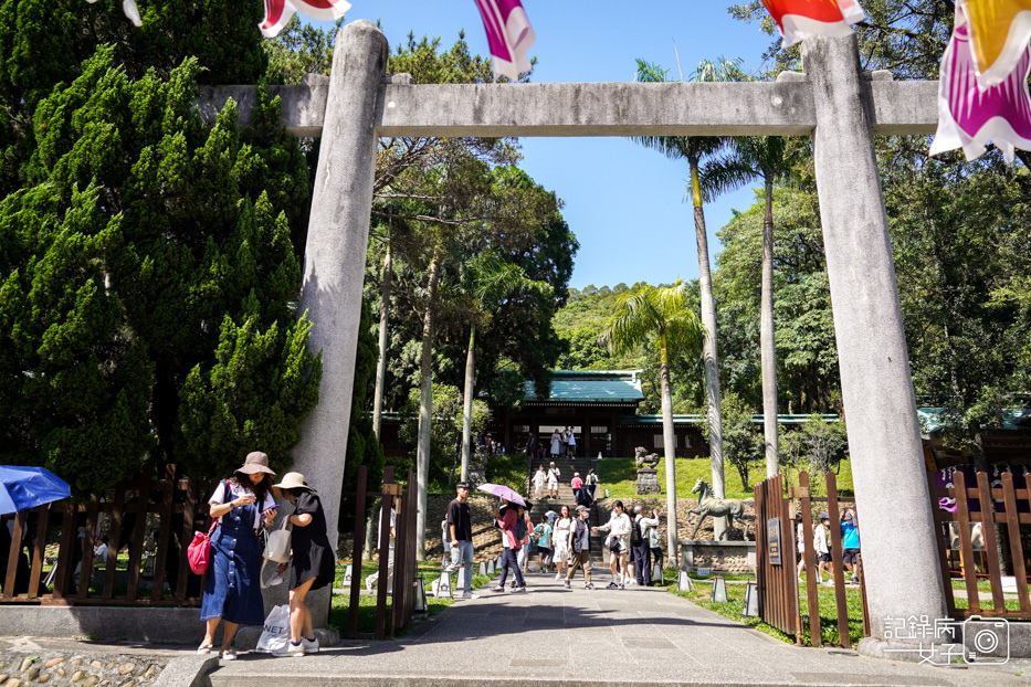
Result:
{"label": "palm with drooping green fronds left of the temple building", "polygon": [[462,409],[462,482],[469,479],[469,457],[472,446],[473,387],[476,377],[476,328],[490,326],[491,311],[517,293],[551,298],[554,289],[547,282],[530,279],[518,265],[503,262],[491,252],[481,253],[469,264],[466,289],[473,297],[470,314],[469,353],[465,357],[465,393]]}

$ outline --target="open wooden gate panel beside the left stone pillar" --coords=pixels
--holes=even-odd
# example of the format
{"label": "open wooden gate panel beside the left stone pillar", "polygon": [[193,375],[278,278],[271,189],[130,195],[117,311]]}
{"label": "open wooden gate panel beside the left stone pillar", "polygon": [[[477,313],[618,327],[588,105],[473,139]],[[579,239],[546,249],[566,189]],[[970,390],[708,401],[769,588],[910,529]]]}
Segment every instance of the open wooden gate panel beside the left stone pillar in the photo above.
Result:
{"label": "open wooden gate panel beside the left stone pillar", "polygon": [[[351,547],[350,603],[348,606],[347,628],[344,636],[351,638],[377,640],[388,634],[393,637],[397,630],[403,627],[415,612],[415,598],[423,594],[422,581],[415,574],[415,510],[418,508],[414,490],[407,493],[393,480],[393,468],[383,468],[383,488],[381,492],[368,490],[368,471],[362,465],[358,468],[357,489],[348,496],[355,498],[355,536]],[[407,484],[414,484],[412,472],[408,471]],[[382,498],[383,507],[379,525],[379,564],[376,585],[376,628],[371,635],[358,632],[359,604],[365,575],[361,573],[362,547],[366,528],[366,506],[370,498]],[[392,508],[391,508],[392,503]],[[394,512],[394,545],[391,554],[390,520]],[[391,560],[392,559],[392,560]],[[393,573],[391,577],[391,572]],[[388,591],[391,603],[387,603]],[[389,609],[388,609],[389,606]],[[389,621],[389,622],[388,622]]]}

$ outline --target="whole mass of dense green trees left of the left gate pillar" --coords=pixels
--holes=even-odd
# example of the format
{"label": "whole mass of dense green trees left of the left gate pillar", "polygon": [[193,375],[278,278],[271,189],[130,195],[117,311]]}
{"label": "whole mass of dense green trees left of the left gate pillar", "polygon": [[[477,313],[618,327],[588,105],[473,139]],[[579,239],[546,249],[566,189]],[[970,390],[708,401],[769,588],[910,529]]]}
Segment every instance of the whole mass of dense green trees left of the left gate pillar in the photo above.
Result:
{"label": "whole mass of dense green trees left of the left gate pillar", "polygon": [[0,4],[0,455],[80,493],[145,459],[286,467],[317,401],[308,162],[264,92],[245,127],[193,108],[263,77],[261,6],[140,9]]}

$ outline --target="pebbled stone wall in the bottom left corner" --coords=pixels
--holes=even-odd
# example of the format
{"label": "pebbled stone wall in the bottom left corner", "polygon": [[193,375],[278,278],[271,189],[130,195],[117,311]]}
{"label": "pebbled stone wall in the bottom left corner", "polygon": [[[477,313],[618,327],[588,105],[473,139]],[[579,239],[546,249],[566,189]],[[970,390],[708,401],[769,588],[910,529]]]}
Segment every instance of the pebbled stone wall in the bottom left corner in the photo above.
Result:
{"label": "pebbled stone wall in the bottom left corner", "polygon": [[[81,648],[81,647],[80,647]],[[168,665],[166,656],[81,651],[0,652],[0,686],[150,687]]]}

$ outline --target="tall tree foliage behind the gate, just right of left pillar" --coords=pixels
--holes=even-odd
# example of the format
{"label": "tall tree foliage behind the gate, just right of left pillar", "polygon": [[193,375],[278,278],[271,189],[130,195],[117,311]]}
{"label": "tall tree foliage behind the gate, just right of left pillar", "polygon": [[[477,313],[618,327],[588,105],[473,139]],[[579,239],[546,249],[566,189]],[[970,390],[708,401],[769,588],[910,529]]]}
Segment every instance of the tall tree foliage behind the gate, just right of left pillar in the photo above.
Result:
{"label": "tall tree foliage behind the gate, just right of left pillar", "polygon": [[[470,54],[461,34],[450,49],[440,39],[409,35],[391,54],[389,68],[411,74],[415,83],[493,78],[490,61]],[[561,201],[520,170],[518,160],[516,144],[508,139],[381,141],[366,283],[381,298],[389,245],[387,409],[401,409],[421,382],[422,335],[431,308],[435,381],[462,388],[470,325],[475,324],[474,398],[485,394],[504,410],[522,400],[525,378],[549,388],[549,370],[562,351],[551,323],[565,303],[578,244],[561,216]],[[526,287],[484,308],[470,286],[483,255],[518,271]],[[434,263],[439,282],[431,294]]]}

